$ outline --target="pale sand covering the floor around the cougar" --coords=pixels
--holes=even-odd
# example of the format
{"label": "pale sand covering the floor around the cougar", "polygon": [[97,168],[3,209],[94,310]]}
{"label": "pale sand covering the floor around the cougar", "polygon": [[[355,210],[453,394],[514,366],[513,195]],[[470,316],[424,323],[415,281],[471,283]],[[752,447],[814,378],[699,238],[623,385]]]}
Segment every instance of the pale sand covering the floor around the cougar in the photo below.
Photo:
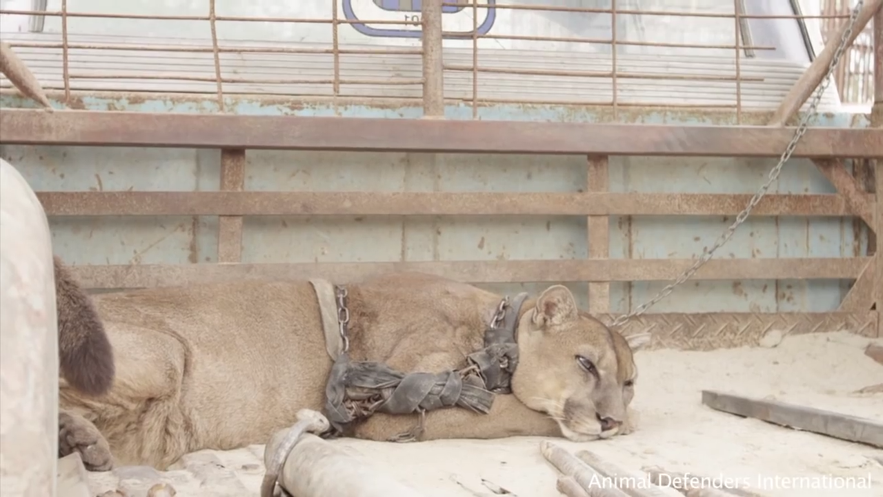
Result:
{"label": "pale sand covering the floor around the cougar", "polygon": [[[640,414],[638,431],[585,444],[553,441],[570,452],[592,450],[629,470],[658,465],[710,477],[747,478],[755,491],[769,497],[883,496],[883,464],[874,460],[883,459],[883,451],[724,414],[700,403],[700,390],[712,389],[883,421],[883,394],[854,393],[883,383],[883,365],[864,356],[870,341],[819,333],[789,337],[774,348],[640,352],[633,403]],[[426,497],[493,496],[482,480],[518,497],[558,497],[557,473],[540,455],[540,440],[334,443],[372,458]],[[263,446],[204,451],[185,458],[186,470],[162,477],[176,486],[178,497],[256,496],[262,454]],[[125,477],[125,469],[94,473],[91,486],[99,493],[120,477],[119,484],[130,486],[132,497],[145,495],[135,479]],[[776,477],[779,483],[772,479]],[[851,479],[832,479],[837,477]]]}

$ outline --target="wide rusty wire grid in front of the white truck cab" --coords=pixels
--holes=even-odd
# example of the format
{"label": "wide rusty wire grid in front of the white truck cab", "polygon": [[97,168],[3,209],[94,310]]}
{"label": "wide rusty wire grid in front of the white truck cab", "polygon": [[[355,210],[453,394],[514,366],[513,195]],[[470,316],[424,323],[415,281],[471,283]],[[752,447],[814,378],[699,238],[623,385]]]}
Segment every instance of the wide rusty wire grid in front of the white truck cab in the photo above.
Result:
{"label": "wide rusty wire grid in front of the white truck cab", "polygon": [[[630,107],[728,109],[742,122],[743,110],[777,106],[803,73],[806,19],[849,18],[804,15],[788,0],[608,0],[605,8],[449,0],[437,16],[419,0],[275,8],[311,17],[234,15],[274,9],[224,0],[123,3],[118,12],[55,1],[57,9],[0,14],[31,16],[30,33],[4,41],[65,103],[72,92],[214,95],[225,111],[234,96],[296,97],[330,99],[337,111],[347,99],[426,100],[426,82],[442,73],[443,97],[470,105],[473,118],[488,104],[554,104],[609,106],[614,116]],[[140,7],[151,12],[133,12]],[[438,65],[427,63],[442,51]],[[822,108],[830,104],[826,96]]]}

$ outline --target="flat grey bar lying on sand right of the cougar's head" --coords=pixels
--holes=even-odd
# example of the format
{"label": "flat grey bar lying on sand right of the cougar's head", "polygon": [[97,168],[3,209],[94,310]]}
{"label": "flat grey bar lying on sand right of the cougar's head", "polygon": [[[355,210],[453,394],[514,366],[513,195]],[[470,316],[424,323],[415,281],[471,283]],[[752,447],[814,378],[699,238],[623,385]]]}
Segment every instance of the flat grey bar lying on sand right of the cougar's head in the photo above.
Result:
{"label": "flat grey bar lying on sand right of the cougar's head", "polygon": [[702,391],[702,403],[736,416],[753,417],[805,432],[883,447],[883,423],[873,419],[710,390]]}

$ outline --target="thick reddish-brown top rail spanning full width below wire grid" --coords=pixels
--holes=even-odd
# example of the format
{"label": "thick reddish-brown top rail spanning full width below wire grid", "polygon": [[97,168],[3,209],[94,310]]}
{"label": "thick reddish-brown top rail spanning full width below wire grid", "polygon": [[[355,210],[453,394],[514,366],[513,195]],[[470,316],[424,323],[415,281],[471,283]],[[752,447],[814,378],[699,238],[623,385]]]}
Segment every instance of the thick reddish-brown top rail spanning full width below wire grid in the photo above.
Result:
{"label": "thick reddish-brown top rail spanning full width below wire grid", "polygon": [[[29,109],[0,112],[22,145],[377,152],[778,157],[795,129]],[[883,156],[883,130],[811,127],[793,157]]]}

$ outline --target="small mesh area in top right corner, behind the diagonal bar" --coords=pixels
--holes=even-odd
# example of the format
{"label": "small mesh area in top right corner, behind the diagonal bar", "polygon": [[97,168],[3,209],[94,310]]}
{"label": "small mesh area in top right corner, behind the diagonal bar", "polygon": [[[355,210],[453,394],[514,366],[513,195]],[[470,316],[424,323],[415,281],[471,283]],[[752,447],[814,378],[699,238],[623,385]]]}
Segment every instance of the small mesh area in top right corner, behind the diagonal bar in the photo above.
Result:
{"label": "small mesh area in top right corner, behind the diagonal bar", "polygon": [[[822,23],[822,38],[827,42],[836,35],[837,29],[846,22],[841,19],[849,14],[854,2],[843,0],[819,0],[826,16]],[[834,84],[844,103],[873,103],[874,99],[874,19],[868,23],[834,69]]]}

